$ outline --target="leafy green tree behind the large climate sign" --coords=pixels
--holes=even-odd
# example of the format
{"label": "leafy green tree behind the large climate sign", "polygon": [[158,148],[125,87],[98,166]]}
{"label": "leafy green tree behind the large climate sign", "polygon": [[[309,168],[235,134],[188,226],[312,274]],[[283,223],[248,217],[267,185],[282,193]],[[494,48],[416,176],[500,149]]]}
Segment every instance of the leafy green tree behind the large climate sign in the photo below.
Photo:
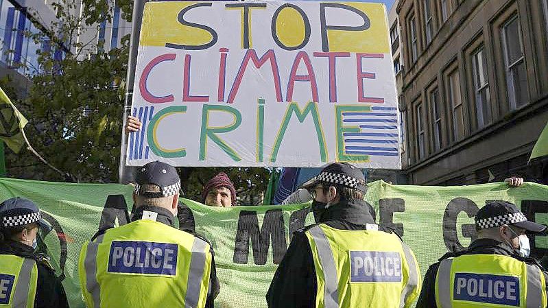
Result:
{"label": "leafy green tree behind the large climate sign", "polygon": [[[108,0],[61,0],[53,3],[57,19],[40,33],[25,33],[35,43],[49,40],[38,51],[38,67],[28,75],[27,93],[17,93],[10,80],[0,81],[12,102],[29,119],[25,128],[33,147],[59,173],[29,151],[7,153],[8,175],[16,178],[70,182],[117,182],[126,91],[129,36],[119,47],[104,50],[98,26],[112,19]],[[130,20],[131,0],[117,0],[123,19]],[[29,14],[40,21],[32,9]],[[91,35],[90,35],[91,34]],[[79,37],[80,39],[76,39]],[[88,37],[87,40],[82,38]],[[26,62],[16,64],[27,66]],[[18,95],[19,94],[19,95]],[[239,196],[257,199],[270,171],[265,168],[180,168],[187,196],[200,200],[202,185],[224,171]]]}

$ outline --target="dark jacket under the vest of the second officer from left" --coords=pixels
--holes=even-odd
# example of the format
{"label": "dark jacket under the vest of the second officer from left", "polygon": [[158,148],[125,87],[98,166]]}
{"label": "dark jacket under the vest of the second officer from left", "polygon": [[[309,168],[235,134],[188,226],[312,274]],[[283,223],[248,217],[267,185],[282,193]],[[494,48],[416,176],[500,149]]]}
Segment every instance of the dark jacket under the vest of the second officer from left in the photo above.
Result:
{"label": "dark jacket under the vest of the second officer from left", "polygon": [[[140,220],[143,217],[143,211],[156,212],[158,213],[158,216],[156,217],[156,222],[161,222],[162,224],[167,224],[168,226],[174,226],[173,213],[159,206],[134,207],[134,210],[132,210],[131,221],[134,222],[136,220]],[[95,233],[95,235],[93,235],[91,240],[93,241],[96,237],[105,233],[106,230],[108,229],[99,230],[97,233]],[[211,252],[211,273],[209,274],[209,289],[207,291],[205,308],[213,308],[213,301],[219,294],[219,289],[220,289],[219,279],[217,279],[217,269],[215,268],[215,252],[213,251],[213,246],[211,246],[211,243],[205,237],[195,234],[194,230],[191,230],[189,228],[184,228],[184,232],[191,233],[191,235],[194,235],[195,237],[203,239],[209,244],[209,247],[210,247],[209,252]]]}

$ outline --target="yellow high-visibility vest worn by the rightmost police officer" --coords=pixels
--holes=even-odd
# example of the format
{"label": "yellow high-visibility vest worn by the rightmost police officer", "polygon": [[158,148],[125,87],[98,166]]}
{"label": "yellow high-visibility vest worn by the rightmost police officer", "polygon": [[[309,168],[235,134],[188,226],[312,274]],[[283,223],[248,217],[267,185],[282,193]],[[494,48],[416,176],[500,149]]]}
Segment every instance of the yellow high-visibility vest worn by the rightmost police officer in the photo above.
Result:
{"label": "yellow high-visibility vest worn by the rightmost police officer", "polygon": [[546,281],[536,265],[499,254],[443,259],[436,275],[442,308],[546,307]]}

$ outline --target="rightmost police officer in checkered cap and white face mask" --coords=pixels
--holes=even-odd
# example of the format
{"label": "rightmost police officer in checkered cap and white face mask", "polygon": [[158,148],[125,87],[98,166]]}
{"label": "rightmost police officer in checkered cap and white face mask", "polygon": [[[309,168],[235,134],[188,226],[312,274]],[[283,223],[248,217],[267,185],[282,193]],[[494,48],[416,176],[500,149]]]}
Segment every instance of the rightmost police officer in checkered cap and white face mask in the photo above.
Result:
{"label": "rightmost police officer in checkered cap and white face mask", "polygon": [[525,233],[546,227],[529,222],[510,202],[489,202],[475,216],[477,239],[449,252],[425,275],[416,307],[535,307],[546,300],[546,273],[529,258]]}

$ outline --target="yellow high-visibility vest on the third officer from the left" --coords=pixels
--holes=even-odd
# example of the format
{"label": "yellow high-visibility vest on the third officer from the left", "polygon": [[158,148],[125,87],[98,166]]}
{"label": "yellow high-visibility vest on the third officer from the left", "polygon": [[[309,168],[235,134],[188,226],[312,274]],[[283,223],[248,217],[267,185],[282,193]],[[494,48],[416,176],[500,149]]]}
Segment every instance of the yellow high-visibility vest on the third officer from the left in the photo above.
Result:
{"label": "yellow high-visibility vest on the third officer from the left", "polygon": [[318,224],[305,232],[314,259],[316,307],[409,307],[420,293],[420,270],[397,235]]}

